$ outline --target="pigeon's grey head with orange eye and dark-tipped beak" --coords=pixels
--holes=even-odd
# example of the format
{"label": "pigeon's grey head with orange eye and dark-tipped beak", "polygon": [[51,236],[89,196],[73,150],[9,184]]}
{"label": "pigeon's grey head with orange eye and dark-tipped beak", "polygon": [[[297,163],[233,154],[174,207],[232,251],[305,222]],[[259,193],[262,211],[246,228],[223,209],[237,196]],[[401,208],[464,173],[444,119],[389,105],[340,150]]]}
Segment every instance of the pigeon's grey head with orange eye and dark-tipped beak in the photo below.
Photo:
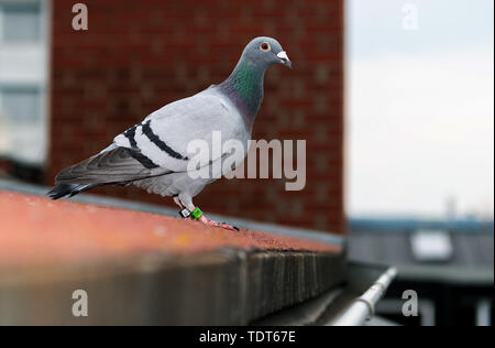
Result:
{"label": "pigeon's grey head with orange eye and dark-tipped beak", "polygon": [[260,36],[251,40],[242,55],[263,68],[267,68],[272,64],[283,64],[289,68],[293,67],[287,53],[282,48],[278,41],[272,37]]}

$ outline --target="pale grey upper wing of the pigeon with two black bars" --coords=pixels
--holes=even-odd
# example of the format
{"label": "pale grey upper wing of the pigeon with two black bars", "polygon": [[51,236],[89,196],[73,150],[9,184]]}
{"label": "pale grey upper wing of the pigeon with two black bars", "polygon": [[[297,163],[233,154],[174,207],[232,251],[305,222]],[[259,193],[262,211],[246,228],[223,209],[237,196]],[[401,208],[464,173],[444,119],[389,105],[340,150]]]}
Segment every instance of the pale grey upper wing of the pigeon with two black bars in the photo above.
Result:
{"label": "pale grey upper wing of the pigeon with two black bars", "polygon": [[[193,97],[166,105],[143,122],[114,139],[117,146],[138,151],[150,163],[173,172],[186,172],[194,150],[188,145],[202,141],[209,157],[216,161],[223,152],[212,149],[213,132],[221,142],[249,138],[241,113],[227,97],[208,88]],[[219,133],[218,133],[219,132]],[[221,144],[220,144],[221,145]]]}

